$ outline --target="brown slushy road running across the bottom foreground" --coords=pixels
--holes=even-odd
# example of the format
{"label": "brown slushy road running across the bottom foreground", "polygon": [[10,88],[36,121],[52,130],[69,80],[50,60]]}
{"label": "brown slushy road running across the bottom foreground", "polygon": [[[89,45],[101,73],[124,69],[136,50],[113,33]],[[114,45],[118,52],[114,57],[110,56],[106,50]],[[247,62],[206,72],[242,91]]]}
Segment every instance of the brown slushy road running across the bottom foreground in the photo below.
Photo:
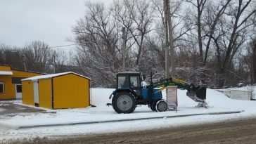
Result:
{"label": "brown slushy road running across the bottom foreground", "polygon": [[256,143],[256,118],[151,131],[55,136],[11,143]]}

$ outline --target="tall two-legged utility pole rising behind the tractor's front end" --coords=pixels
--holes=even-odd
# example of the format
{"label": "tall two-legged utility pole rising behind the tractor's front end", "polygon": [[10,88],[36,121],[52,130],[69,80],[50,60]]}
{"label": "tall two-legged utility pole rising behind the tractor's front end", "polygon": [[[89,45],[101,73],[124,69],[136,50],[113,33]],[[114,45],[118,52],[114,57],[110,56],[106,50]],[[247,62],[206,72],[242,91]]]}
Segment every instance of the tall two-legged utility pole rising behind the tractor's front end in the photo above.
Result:
{"label": "tall two-legged utility pole rising behind the tractor's front end", "polygon": [[174,45],[172,37],[172,20],[170,18],[169,0],[163,0],[164,5],[164,27],[165,27],[165,75],[169,78],[169,50],[171,52],[171,77],[175,77],[174,67]]}

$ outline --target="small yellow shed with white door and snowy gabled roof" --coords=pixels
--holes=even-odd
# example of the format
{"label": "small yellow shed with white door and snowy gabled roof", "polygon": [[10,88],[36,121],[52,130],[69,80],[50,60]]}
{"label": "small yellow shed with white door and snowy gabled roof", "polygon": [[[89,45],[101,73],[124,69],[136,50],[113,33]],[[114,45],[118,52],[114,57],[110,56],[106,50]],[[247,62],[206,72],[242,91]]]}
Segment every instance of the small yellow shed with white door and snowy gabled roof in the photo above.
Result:
{"label": "small yellow shed with white door and snowy gabled roof", "polygon": [[63,72],[22,80],[23,103],[49,109],[90,105],[90,79],[75,72]]}

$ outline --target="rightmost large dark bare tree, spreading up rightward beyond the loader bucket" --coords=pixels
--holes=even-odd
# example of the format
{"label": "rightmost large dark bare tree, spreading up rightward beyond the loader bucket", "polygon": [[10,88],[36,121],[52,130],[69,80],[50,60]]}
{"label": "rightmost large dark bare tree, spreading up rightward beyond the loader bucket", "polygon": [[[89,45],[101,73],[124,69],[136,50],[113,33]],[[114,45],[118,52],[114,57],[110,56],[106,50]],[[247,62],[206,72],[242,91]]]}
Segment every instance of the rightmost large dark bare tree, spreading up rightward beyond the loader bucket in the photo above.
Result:
{"label": "rightmost large dark bare tree, spreading up rightward beyond the loader bucket", "polygon": [[227,67],[231,65],[233,57],[236,55],[245,41],[250,36],[250,28],[255,25],[255,5],[251,0],[233,2],[229,5],[219,25],[219,35],[215,36],[215,46],[217,51],[217,63],[219,74],[222,79],[219,86],[224,86],[224,74]]}

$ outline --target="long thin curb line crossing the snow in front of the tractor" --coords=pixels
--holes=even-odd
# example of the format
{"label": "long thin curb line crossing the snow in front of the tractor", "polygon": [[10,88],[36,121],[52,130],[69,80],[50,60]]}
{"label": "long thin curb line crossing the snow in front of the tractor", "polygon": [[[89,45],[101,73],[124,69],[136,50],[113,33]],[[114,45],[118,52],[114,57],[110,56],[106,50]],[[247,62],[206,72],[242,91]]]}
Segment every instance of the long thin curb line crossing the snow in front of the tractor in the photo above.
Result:
{"label": "long thin curb line crossing the snow in front of the tractor", "polygon": [[162,119],[162,118],[175,118],[175,117],[190,117],[190,116],[198,116],[198,115],[217,115],[217,114],[237,114],[244,112],[242,111],[231,111],[231,112],[209,112],[204,114],[184,114],[184,115],[173,115],[167,117],[146,117],[146,118],[134,118],[134,119],[117,119],[117,120],[107,120],[107,121],[97,121],[97,122],[75,122],[70,124],[42,124],[42,125],[34,125],[34,126],[18,126],[16,129],[31,129],[31,128],[39,128],[39,127],[51,127],[51,126],[73,126],[73,125],[82,125],[82,124],[102,124],[108,122],[129,122],[129,121],[137,121],[137,120],[145,120],[145,119]]}

